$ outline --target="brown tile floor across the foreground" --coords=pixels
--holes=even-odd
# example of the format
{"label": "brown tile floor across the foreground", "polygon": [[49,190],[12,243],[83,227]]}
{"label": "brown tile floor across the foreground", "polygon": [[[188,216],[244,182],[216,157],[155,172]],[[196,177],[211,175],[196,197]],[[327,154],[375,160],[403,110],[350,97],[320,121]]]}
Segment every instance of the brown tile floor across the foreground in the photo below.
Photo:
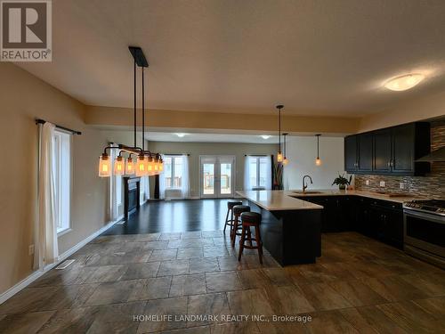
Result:
{"label": "brown tile floor across the foreground", "polygon": [[[317,264],[282,268],[267,252],[239,263],[220,231],[101,236],[0,305],[0,332],[445,332],[445,271],[358,233],[322,238]],[[227,320],[243,314],[265,318]],[[312,321],[273,321],[286,314]]]}

